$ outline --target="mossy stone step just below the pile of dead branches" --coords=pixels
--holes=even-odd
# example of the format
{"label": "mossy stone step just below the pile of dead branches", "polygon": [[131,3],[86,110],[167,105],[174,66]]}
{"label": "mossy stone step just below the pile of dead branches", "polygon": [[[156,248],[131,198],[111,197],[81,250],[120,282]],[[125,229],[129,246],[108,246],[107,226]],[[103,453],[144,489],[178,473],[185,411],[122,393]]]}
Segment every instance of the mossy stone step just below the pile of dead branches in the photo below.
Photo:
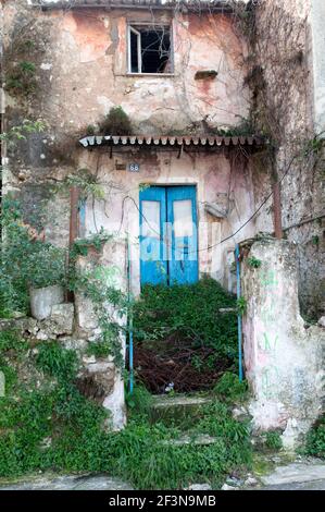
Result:
{"label": "mossy stone step just below the pile of dead branches", "polygon": [[153,395],[151,405],[152,422],[174,425],[193,425],[201,417],[202,406],[212,403],[211,397],[202,395]]}

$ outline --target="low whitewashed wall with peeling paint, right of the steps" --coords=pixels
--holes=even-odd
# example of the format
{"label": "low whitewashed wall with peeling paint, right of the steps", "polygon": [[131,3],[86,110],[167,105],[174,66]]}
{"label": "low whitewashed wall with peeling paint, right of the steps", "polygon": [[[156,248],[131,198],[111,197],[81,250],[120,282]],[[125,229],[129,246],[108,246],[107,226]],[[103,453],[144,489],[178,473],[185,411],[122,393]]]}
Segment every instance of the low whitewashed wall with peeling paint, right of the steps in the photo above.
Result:
{"label": "low whitewashed wall with peeling paint, right of the steps", "polygon": [[[245,251],[245,248],[242,249]],[[297,247],[272,239],[255,242],[243,259],[246,376],[253,391],[257,431],[279,429],[293,448],[322,412],[325,331],[304,326],[299,313]]]}

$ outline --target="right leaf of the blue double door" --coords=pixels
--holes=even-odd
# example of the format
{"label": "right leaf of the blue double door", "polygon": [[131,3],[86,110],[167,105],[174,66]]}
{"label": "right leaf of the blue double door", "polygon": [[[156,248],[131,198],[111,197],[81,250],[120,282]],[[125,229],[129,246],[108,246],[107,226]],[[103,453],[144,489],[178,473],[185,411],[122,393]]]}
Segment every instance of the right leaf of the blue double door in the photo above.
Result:
{"label": "right leaf of the blue double door", "polygon": [[167,187],[167,221],[172,224],[170,284],[198,281],[198,230],[195,186]]}

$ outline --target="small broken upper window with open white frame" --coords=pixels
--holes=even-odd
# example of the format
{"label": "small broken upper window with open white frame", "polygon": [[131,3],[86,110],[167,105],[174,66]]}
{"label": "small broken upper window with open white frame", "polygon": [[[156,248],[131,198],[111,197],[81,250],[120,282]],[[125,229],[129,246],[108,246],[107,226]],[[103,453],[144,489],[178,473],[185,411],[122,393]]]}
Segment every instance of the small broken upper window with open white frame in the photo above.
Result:
{"label": "small broken upper window with open white frame", "polygon": [[168,26],[128,26],[128,72],[172,73]]}

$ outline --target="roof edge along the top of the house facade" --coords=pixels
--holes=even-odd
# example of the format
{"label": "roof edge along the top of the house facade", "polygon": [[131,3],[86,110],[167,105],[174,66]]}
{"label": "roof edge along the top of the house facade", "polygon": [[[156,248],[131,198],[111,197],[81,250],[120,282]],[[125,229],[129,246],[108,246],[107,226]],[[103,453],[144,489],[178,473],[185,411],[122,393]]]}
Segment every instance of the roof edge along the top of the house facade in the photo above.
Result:
{"label": "roof edge along the top of the house facade", "polygon": [[[239,2],[241,3],[241,2]],[[32,5],[43,11],[54,9],[142,9],[142,10],[188,10],[200,14],[200,12],[234,12],[229,0],[201,1],[197,0],[32,0]]]}

